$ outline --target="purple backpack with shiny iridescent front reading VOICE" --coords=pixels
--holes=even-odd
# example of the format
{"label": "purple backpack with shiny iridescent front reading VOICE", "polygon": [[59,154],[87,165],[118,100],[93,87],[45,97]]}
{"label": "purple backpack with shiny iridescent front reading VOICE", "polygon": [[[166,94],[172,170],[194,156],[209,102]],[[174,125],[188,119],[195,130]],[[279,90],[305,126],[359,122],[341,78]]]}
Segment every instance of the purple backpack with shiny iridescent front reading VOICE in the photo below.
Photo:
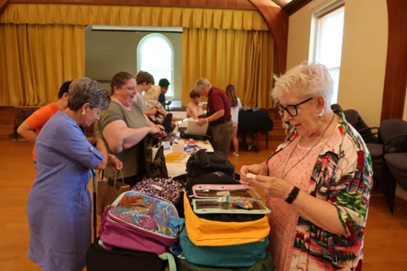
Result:
{"label": "purple backpack with shiny iridescent front reading VOICE", "polygon": [[101,216],[100,239],[105,249],[124,249],[162,254],[178,244],[175,206],[162,198],[127,191]]}

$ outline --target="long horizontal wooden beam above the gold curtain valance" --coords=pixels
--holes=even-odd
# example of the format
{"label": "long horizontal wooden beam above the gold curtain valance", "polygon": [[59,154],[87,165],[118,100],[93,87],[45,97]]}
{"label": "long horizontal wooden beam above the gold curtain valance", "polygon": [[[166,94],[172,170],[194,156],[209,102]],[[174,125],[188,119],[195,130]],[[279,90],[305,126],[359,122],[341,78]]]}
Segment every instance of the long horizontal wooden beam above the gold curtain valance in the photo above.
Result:
{"label": "long horizontal wooden beam above the gold curtain valance", "polygon": [[9,0],[24,4],[74,4],[256,10],[248,0]]}

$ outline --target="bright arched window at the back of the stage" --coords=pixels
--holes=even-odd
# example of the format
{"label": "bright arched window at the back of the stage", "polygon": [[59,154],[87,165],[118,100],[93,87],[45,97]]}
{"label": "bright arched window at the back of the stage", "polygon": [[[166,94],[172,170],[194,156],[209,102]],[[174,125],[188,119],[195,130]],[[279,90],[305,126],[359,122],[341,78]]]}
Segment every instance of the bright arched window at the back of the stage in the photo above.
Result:
{"label": "bright arched window at the back of the stage", "polygon": [[153,75],[156,85],[161,78],[167,78],[170,85],[165,96],[173,96],[173,47],[161,34],[149,34],[137,46],[137,70]]}

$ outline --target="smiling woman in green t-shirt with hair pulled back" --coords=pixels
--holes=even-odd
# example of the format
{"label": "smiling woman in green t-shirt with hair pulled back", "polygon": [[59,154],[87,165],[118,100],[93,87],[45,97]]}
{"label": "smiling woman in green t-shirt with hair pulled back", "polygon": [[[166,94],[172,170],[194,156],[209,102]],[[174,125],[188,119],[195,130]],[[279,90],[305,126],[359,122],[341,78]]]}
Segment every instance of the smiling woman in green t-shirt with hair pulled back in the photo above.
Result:
{"label": "smiling woman in green t-shirt with hair pulled back", "polygon": [[[108,153],[115,154],[123,162],[124,181],[133,186],[139,181],[138,162],[143,147],[139,142],[147,134],[164,135],[163,127],[150,122],[140,106],[133,102],[137,86],[134,76],[127,72],[117,73],[110,86],[112,102],[95,123],[95,135],[103,139]],[[109,176],[111,172],[107,166],[105,175]]]}

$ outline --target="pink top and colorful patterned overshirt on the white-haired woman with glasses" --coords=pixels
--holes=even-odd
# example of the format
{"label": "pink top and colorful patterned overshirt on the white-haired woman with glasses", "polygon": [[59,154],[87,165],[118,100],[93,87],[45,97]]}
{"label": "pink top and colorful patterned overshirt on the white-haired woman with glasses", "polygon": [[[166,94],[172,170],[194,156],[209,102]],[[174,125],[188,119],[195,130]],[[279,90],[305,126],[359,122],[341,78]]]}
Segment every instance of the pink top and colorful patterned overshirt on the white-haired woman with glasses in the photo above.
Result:
{"label": "pink top and colorful patterned overshirt on the white-haired woman with glasses", "polygon": [[[315,147],[286,175],[302,191],[333,204],[347,237],[319,228],[283,200],[267,198],[271,209],[270,252],[277,271],[362,269],[363,243],[372,181],[371,157],[360,134],[348,123],[342,110],[332,135]],[[284,164],[299,140],[289,131],[269,158],[269,174],[281,177]],[[297,146],[285,172],[307,149]],[[285,173],[284,172],[284,173]]]}

